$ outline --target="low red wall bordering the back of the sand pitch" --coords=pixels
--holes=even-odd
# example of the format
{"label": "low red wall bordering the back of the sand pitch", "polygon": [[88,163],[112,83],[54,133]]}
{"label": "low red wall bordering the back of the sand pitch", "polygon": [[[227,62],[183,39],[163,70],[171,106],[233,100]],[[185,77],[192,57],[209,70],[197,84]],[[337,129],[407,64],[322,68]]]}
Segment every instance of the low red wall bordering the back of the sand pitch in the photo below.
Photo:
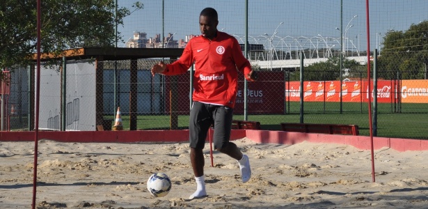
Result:
{"label": "low red wall bordering the back of the sand pitch", "polygon": [[[212,134],[213,132],[211,132]],[[34,132],[0,132],[0,141],[34,141]],[[371,149],[370,137],[339,134],[308,134],[269,130],[232,130],[230,139],[246,137],[257,143],[298,144],[311,143],[346,144],[362,150]],[[102,132],[39,132],[39,139],[62,142],[137,143],[144,141],[189,141],[189,130],[159,131],[102,131]],[[207,139],[207,142],[209,140]],[[373,148],[392,148],[399,152],[428,150],[428,140],[373,137]],[[208,148],[208,147],[207,147]]]}

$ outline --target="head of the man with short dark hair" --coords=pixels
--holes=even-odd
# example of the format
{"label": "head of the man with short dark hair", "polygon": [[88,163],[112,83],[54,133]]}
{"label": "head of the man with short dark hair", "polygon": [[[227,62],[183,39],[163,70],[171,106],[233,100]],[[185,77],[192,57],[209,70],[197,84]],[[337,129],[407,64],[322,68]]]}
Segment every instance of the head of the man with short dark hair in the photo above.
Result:
{"label": "head of the man with short dark hair", "polygon": [[199,29],[202,36],[212,39],[216,37],[219,16],[214,8],[205,8],[199,15]]}

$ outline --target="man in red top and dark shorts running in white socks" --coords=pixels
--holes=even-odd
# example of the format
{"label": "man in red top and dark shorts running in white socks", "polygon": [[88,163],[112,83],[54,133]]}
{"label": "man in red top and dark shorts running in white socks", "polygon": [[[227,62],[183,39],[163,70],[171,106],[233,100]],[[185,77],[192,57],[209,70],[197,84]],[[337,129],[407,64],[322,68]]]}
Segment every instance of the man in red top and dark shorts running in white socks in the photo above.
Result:
{"label": "man in red top and dark shorts running in white socks", "polygon": [[214,124],[214,148],[239,163],[241,180],[251,178],[250,162],[236,144],[229,142],[232,111],[237,95],[237,70],[246,79],[257,79],[248,60],[242,55],[241,47],[233,36],[217,30],[218,15],[214,8],[200,12],[199,27],[202,36],[192,38],[180,59],[166,65],[159,62],[152,67],[152,75],[177,75],[195,62],[193,82],[193,105],[189,120],[190,159],[196,179],[196,192],[189,199],[207,196],[204,177],[203,148],[209,127]]}

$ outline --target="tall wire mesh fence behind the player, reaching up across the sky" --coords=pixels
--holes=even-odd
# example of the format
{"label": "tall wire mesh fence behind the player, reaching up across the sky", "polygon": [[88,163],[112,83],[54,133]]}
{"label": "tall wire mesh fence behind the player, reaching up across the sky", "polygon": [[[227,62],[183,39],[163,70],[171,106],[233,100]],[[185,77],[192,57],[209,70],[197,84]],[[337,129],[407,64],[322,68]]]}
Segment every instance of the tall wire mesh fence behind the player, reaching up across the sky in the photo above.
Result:
{"label": "tall wire mesh fence behind the player, reaching up across the sky", "polygon": [[[185,47],[200,33],[199,12],[208,6],[219,13],[219,31],[237,38],[243,51],[248,41],[246,55],[260,76],[259,81],[248,82],[245,91],[239,75],[236,120],[244,119],[246,94],[248,120],[259,121],[264,130],[280,130],[279,123],[299,123],[303,118],[304,123],[356,124],[360,134],[369,135],[371,97],[379,137],[428,139],[426,1],[370,1],[374,31],[370,45],[378,49],[376,65],[374,52],[365,47],[363,1],[344,1],[342,6],[337,1],[250,1],[248,36],[244,1],[144,3],[145,8],[126,17],[120,27],[120,47]],[[128,6],[127,1],[119,6]],[[150,68],[160,60],[81,60],[67,61],[64,67],[43,66],[40,128],[97,130],[102,123],[109,130],[120,107],[125,130],[187,129],[192,71],[152,77]],[[367,87],[367,62],[377,70],[377,82],[371,83],[372,88],[377,85],[376,91]],[[98,64],[103,66],[102,75],[97,75]],[[34,68],[13,68],[10,75],[10,94],[3,97],[3,128],[32,130]]]}

